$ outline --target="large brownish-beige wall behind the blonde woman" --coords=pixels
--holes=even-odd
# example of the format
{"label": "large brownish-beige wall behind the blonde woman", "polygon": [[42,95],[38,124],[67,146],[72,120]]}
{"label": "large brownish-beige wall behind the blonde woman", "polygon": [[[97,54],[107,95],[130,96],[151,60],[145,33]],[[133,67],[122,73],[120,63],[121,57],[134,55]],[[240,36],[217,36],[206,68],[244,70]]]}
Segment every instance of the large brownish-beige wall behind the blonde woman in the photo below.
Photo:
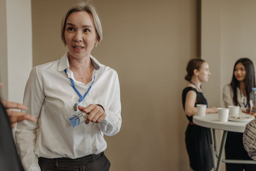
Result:
{"label": "large brownish-beige wall behind the blonde woman", "polygon": [[[60,22],[71,0],[32,0],[33,65],[66,49]],[[111,170],[189,170],[181,103],[186,63],[198,54],[196,0],[94,0],[103,41],[93,55],[119,75],[122,128],[108,142]]]}

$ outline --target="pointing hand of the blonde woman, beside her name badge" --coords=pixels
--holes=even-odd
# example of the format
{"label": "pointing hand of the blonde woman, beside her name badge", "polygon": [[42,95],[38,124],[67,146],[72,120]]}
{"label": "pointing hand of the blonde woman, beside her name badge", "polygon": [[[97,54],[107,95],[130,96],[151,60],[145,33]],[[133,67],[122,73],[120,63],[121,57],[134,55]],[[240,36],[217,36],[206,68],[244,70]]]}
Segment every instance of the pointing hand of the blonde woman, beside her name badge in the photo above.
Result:
{"label": "pointing hand of the blonde woman, beside her name badge", "polygon": [[89,124],[90,122],[101,123],[102,120],[106,117],[104,109],[99,105],[90,104],[87,107],[79,105],[78,109],[88,114],[85,120],[85,124]]}

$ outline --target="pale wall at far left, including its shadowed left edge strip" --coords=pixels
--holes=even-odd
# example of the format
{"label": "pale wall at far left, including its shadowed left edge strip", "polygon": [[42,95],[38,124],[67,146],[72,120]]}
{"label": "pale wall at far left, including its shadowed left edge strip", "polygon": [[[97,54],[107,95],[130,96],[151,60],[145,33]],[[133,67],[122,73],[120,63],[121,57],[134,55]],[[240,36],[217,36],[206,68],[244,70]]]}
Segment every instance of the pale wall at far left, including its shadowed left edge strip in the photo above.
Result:
{"label": "pale wall at far left, including its shadowed left edge strip", "polygon": [[1,98],[22,103],[32,68],[31,1],[0,0],[0,21]]}

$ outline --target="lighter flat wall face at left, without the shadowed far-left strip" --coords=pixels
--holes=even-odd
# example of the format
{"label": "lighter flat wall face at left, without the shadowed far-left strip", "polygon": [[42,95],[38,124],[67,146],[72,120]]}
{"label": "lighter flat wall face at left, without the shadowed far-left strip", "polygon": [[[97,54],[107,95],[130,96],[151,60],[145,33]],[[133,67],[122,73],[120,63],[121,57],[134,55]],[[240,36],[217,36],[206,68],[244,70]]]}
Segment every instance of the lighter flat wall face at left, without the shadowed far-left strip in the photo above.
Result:
{"label": "lighter flat wall face at left, without the shadowed far-left strip", "polygon": [[6,17],[8,100],[22,103],[32,68],[31,1],[6,0]]}

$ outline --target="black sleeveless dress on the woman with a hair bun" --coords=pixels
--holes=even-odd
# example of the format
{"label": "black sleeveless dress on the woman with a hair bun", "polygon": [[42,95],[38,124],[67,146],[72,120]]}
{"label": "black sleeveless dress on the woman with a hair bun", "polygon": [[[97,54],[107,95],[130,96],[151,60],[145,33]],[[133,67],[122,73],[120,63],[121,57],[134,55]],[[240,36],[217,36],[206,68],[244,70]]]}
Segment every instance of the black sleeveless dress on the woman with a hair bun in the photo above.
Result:
{"label": "black sleeveless dress on the woman with a hair bun", "polygon": [[[207,104],[201,92],[193,87],[186,87],[182,92],[183,108],[188,91],[195,91],[197,94],[196,104]],[[210,144],[212,143],[211,130],[195,124],[191,124],[193,116],[187,116],[189,124],[185,133],[186,148],[189,156],[190,167],[195,171],[210,171],[213,168]]]}

